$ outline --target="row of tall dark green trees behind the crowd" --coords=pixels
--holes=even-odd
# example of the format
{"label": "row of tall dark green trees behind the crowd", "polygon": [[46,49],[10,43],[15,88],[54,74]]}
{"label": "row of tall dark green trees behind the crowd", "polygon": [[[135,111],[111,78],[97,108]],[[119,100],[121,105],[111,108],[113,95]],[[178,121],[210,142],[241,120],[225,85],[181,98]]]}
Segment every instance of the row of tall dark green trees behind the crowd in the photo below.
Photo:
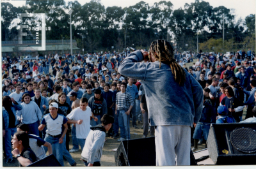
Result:
{"label": "row of tall dark green trees behind the crowd", "polygon": [[[234,10],[225,6],[213,8],[210,3],[199,0],[186,3],[184,8],[177,10],[173,10],[171,1],[160,1],[153,6],[140,1],[125,8],[106,8],[99,0],[83,6],[77,1],[26,1],[25,6],[18,8],[10,3],[1,3],[2,41],[17,40],[17,26],[22,22],[15,24],[14,21],[20,13],[46,13],[46,40],[69,40],[70,9],[73,11],[72,38],[77,41],[77,47],[84,48],[86,52],[111,50],[112,46],[115,50],[123,50],[125,45],[148,48],[156,39],[172,41],[178,50],[196,51],[196,33],[204,50],[231,50],[244,47],[245,43],[246,47],[255,47],[255,14],[244,20],[235,20]],[[218,43],[223,36],[223,20],[224,46]],[[24,22],[32,27],[29,32],[35,34],[33,18],[26,18]],[[23,37],[24,40],[33,40],[33,36]],[[212,40],[215,40],[215,45],[209,45]],[[227,45],[230,41],[232,45]]]}

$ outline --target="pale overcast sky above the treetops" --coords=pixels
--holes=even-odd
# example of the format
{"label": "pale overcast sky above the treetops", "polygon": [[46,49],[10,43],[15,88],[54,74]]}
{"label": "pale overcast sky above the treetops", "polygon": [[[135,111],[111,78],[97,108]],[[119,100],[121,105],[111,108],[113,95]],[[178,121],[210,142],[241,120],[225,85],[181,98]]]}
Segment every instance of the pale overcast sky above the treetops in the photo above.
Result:
{"label": "pale overcast sky above the treetops", "polygon": [[[65,0],[68,2],[68,0]],[[71,1],[71,0],[69,0]],[[74,0],[72,0],[74,1]],[[77,0],[81,5],[90,2],[90,0]],[[152,6],[154,3],[159,2],[161,0],[144,0],[149,6]],[[245,18],[250,14],[255,14],[255,0],[204,0],[209,2],[210,5],[215,8],[218,6],[225,6],[228,9],[234,9],[236,20],[238,18]],[[4,2],[4,1],[1,1]],[[13,6],[22,6],[26,4],[26,1],[8,1],[13,4]],[[108,6],[121,6],[122,8],[132,6],[140,1],[138,0],[125,0],[125,1],[116,1],[116,0],[101,0],[101,3],[106,7]],[[177,10],[178,8],[184,8],[184,4],[191,4],[195,2],[195,0],[172,0],[173,10]]]}

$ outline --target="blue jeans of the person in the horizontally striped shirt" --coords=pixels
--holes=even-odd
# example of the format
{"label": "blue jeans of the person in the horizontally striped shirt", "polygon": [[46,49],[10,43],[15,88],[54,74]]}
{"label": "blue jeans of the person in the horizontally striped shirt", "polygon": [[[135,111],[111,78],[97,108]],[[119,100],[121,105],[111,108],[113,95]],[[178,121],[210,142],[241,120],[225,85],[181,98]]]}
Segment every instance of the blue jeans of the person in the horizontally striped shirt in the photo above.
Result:
{"label": "blue jeans of the person in the horizontally striped shirt", "polygon": [[122,138],[131,138],[129,119],[130,115],[125,114],[125,110],[117,110],[118,124],[120,127],[120,135]]}

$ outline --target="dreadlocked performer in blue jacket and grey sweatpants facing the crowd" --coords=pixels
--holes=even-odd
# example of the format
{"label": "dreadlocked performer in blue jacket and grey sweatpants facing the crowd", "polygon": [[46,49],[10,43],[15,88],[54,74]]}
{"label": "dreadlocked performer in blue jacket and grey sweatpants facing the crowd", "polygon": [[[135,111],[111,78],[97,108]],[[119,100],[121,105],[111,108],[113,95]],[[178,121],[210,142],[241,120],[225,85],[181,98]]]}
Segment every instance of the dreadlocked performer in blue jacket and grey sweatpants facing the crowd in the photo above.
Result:
{"label": "dreadlocked performer in blue jacket and grey sweatpants facing the crowd", "polygon": [[175,61],[172,45],[165,40],[153,41],[149,52],[132,52],[118,71],[143,83],[150,103],[149,124],[156,128],[156,165],[190,165],[191,127],[202,114],[203,90]]}

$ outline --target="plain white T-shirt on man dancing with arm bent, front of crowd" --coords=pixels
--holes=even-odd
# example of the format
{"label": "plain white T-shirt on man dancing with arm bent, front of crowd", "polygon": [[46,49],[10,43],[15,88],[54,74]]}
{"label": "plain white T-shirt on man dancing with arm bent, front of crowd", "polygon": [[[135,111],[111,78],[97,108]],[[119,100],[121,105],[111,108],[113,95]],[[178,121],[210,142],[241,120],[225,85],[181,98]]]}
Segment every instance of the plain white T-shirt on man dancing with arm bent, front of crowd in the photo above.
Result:
{"label": "plain white T-shirt on man dancing with arm bent, front of crowd", "polygon": [[[86,110],[81,110],[80,107],[75,108],[67,115],[68,119],[74,119],[75,121],[83,120],[82,124],[76,124],[76,137],[86,139],[90,132],[90,117],[92,110],[90,107],[86,107]],[[99,119],[100,120],[100,119]]]}

